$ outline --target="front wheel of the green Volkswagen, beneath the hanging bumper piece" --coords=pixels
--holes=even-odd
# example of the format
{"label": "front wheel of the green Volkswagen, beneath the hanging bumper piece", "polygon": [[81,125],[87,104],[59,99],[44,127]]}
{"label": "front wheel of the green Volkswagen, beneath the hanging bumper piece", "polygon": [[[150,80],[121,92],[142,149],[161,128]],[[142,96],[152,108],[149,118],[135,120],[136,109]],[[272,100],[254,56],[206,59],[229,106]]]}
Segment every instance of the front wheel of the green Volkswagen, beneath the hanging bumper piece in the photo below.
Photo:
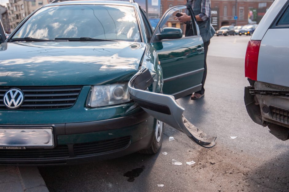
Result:
{"label": "front wheel of the green Volkswagen, beneath the hanging bumper piece", "polygon": [[161,145],[163,143],[164,137],[164,122],[155,119],[154,126],[156,126],[156,131],[152,140],[152,144],[149,148],[139,151],[143,154],[156,154],[159,152]]}

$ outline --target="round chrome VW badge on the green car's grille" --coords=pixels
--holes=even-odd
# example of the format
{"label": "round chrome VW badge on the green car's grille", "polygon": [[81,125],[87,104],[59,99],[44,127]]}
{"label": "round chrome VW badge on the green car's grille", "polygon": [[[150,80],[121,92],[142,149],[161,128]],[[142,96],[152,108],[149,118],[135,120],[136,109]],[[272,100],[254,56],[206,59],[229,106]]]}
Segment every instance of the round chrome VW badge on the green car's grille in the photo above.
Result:
{"label": "round chrome VW badge on the green car's grille", "polygon": [[9,109],[16,109],[21,106],[24,101],[24,94],[20,89],[8,90],[3,98],[3,102]]}

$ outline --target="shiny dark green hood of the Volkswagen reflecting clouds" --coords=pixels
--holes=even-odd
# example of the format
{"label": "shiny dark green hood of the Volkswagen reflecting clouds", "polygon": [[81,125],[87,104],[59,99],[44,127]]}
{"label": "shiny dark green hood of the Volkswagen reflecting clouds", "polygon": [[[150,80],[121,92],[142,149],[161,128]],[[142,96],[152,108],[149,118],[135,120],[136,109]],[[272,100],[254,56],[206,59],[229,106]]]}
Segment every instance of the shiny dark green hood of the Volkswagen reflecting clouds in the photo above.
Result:
{"label": "shiny dark green hood of the Volkswagen reflecting clouds", "polygon": [[97,85],[128,81],[144,43],[13,42],[0,44],[0,86]]}

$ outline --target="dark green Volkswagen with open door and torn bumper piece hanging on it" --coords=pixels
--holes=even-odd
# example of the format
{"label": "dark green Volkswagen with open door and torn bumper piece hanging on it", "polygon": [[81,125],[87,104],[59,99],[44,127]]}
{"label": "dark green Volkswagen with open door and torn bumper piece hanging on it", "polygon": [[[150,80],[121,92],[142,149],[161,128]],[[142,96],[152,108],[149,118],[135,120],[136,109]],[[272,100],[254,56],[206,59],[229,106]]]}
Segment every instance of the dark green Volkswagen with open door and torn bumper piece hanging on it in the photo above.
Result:
{"label": "dark green Volkswagen with open door and torn bumper piece hanging on it", "polygon": [[204,71],[196,23],[187,37],[166,27],[186,8],[170,8],[155,30],[133,1],[55,1],[31,13],[0,44],[0,164],[154,154],[164,123],[213,146],[186,129],[174,100],[200,90]]}

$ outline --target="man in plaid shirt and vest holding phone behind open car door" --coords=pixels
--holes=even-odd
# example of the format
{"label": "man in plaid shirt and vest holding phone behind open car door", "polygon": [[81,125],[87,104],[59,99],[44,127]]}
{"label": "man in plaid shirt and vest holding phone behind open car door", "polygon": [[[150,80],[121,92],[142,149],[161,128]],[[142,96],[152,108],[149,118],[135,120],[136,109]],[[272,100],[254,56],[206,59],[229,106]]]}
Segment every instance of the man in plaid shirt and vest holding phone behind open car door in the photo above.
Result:
{"label": "man in plaid shirt and vest holding phone behind open car door", "polygon": [[[204,84],[207,77],[207,53],[208,46],[210,44],[210,39],[216,33],[215,29],[212,27],[210,18],[211,18],[211,2],[210,0],[188,0],[187,5],[191,5],[192,10],[195,14],[197,24],[200,29],[200,35],[202,36],[204,42],[204,75],[202,79],[202,89],[198,92],[192,94],[191,99],[199,99],[204,96],[205,89]],[[185,11],[181,17],[177,17],[176,20],[181,23],[186,23],[186,36],[191,36],[192,34],[192,21],[191,16],[188,10]],[[191,30],[190,30],[191,29]]]}

